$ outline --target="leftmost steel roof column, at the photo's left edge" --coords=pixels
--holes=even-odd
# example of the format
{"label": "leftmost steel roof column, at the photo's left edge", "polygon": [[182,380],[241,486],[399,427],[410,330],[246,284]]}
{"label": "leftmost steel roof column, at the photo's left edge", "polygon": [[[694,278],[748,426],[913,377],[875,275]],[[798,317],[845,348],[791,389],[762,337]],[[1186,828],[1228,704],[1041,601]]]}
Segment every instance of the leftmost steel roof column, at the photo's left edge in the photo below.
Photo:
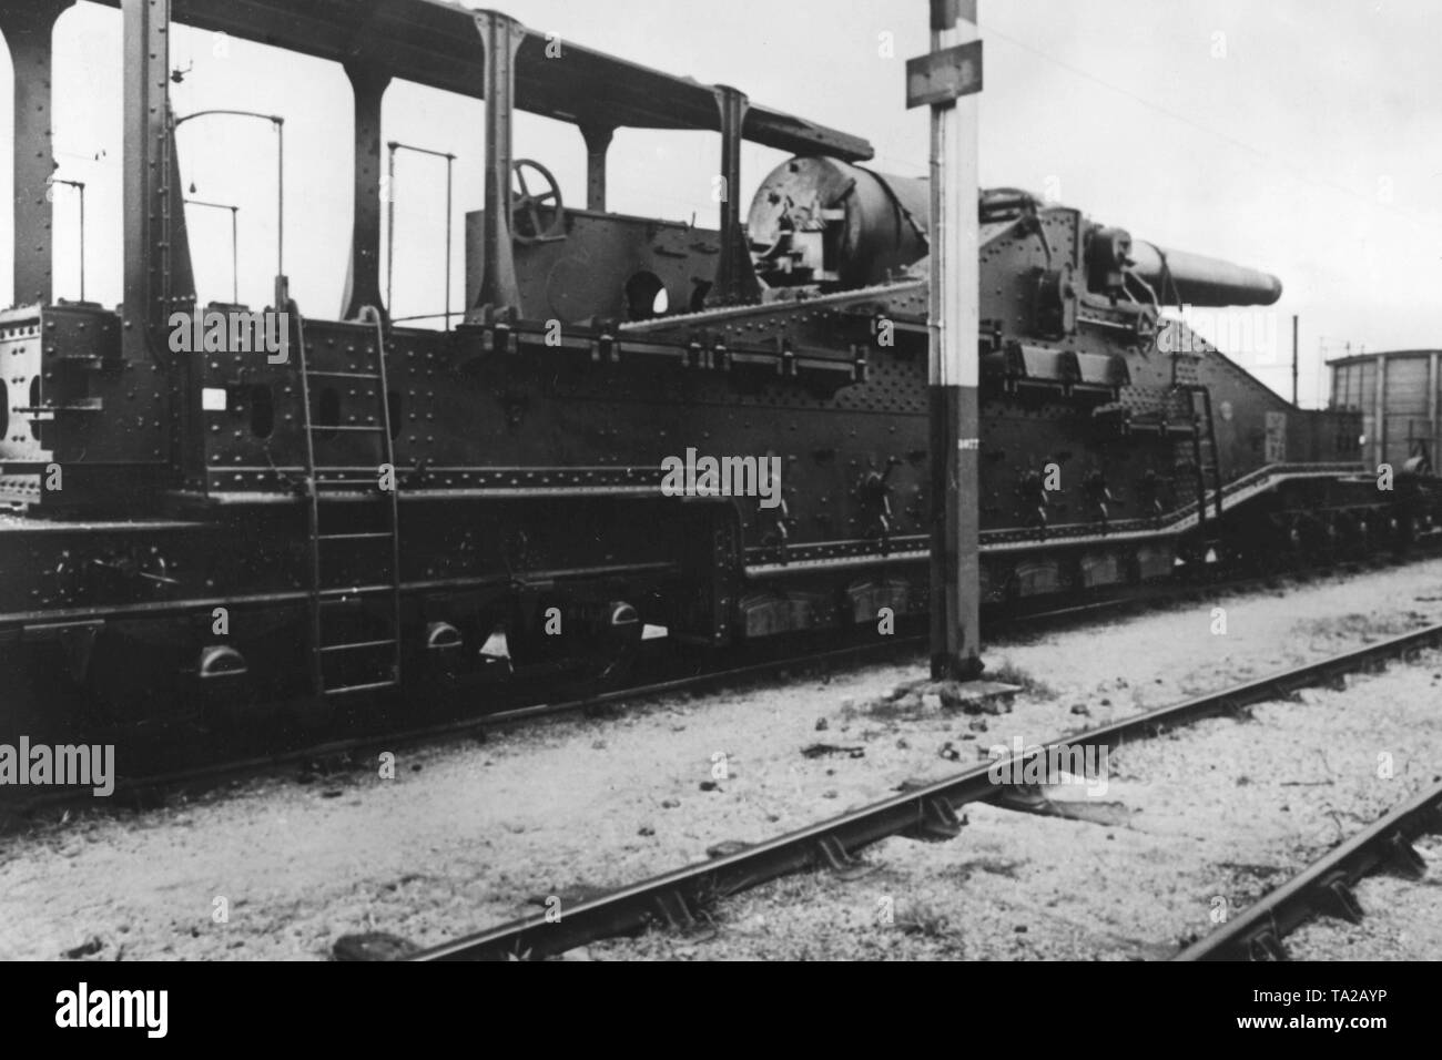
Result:
{"label": "leftmost steel roof column, at the photo's left edge", "polygon": [[55,297],[49,180],[55,172],[50,128],[55,22],[74,0],[0,4],[0,32],[14,66],[14,303]]}

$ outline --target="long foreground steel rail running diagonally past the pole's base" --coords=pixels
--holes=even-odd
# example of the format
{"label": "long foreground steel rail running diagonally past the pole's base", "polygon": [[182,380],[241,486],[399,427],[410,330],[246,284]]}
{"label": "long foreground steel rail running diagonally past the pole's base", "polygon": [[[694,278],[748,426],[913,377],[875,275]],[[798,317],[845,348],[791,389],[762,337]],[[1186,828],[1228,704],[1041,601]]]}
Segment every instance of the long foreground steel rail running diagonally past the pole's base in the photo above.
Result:
{"label": "long foreground steel rail running diagonally past the pole's base", "polygon": [[[1442,643],[1442,624],[1426,626],[1343,655],[1182,699],[1099,728],[1074,733],[1015,756],[1011,776],[1027,776],[1025,763],[1035,757],[1054,760],[1054,756],[1071,748],[1112,748],[1128,740],[1152,738],[1178,725],[1213,715],[1237,714],[1255,704],[1291,695],[1311,685],[1335,681],[1345,673],[1364,671],[1438,643]],[[1028,799],[1022,787],[996,785],[991,777],[992,767],[994,763],[988,761],[945,780],[906,790],[862,809],[712,861],[666,873],[571,907],[562,906],[558,919],[551,914],[536,914],[513,920],[424,950],[414,955],[412,959],[539,959],[564,953],[597,939],[633,933],[653,923],[686,927],[711,903],[769,880],[810,868],[854,870],[858,867],[857,852],[887,836],[952,838],[960,832],[956,811],[968,802],[1024,806]],[[1420,819],[1422,811],[1415,809],[1413,815]],[[1379,845],[1380,842],[1381,845]],[[1368,858],[1386,842],[1376,836],[1358,842],[1358,851],[1345,855],[1353,858],[1348,861],[1348,871],[1353,867],[1374,864]],[[1311,898],[1315,894],[1315,887],[1317,881],[1309,880],[1299,890]],[[1262,914],[1259,910],[1257,916]],[[1239,920],[1231,930],[1242,932],[1247,923],[1246,919]]]}

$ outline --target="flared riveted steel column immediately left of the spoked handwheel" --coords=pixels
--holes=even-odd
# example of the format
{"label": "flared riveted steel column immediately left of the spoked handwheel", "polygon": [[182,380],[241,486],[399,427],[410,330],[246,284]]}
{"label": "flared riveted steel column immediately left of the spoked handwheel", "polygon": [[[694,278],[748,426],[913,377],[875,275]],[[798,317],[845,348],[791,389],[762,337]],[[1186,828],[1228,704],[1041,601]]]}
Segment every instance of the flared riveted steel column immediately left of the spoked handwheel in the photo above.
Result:
{"label": "flared riveted steel column immediately left of the spoked handwheel", "polygon": [[516,50],[525,29],[497,12],[474,12],[486,62],[486,206],[482,215],[485,275],[476,307],[521,312],[515,247],[510,242],[512,125],[516,98]]}

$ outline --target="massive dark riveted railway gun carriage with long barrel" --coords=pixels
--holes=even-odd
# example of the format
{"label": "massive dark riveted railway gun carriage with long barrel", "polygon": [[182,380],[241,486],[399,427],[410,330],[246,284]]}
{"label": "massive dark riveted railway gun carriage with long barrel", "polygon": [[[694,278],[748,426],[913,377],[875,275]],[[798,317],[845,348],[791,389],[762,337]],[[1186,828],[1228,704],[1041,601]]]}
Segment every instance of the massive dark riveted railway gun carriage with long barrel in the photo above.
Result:
{"label": "massive dark riveted railway gun carriage with long barrel", "polygon": [[[124,301],[65,301],[45,190],[68,6],[0,10],[7,730],[598,678],[645,626],[724,649],[926,610],[926,193],[865,169],[865,140],[570,42],[548,55],[547,35],[437,0],[123,0]],[[345,69],[356,163],[333,314],[283,274],[264,309],[198,306],[172,17]],[[392,79],[485,101],[485,200],[447,330],[392,320],[381,291]],[[584,208],[516,156],[518,110],[577,128]],[[743,141],[795,157],[747,216],[725,196],[702,229],[607,209],[619,128],[718,134],[731,189]],[[1397,548],[1426,525],[1415,483],[1364,474],[1354,414],[1289,405],[1161,313],[1270,304],[1275,278],[1011,189],[978,208],[985,603]],[[248,313],[278,323],[274,348],[234,340]],[[200,349],[176,349],[182,326]],[[686,453],[777,466],[776,503],[671,496],[665,464]]]}

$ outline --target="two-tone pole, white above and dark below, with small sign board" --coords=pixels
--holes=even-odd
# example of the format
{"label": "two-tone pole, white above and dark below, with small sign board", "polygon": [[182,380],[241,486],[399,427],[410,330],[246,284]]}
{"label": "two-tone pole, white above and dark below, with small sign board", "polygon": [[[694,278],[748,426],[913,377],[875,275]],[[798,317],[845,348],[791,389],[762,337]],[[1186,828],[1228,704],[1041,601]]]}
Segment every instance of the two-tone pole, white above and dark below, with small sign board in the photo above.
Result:
{"label": "two-tone pole, white above and dark below, with small sign board", "polygon": [[907,108],[932,108],[932,679],[981,673],[976,0],[930,0],[932,50],[907,62]]}

